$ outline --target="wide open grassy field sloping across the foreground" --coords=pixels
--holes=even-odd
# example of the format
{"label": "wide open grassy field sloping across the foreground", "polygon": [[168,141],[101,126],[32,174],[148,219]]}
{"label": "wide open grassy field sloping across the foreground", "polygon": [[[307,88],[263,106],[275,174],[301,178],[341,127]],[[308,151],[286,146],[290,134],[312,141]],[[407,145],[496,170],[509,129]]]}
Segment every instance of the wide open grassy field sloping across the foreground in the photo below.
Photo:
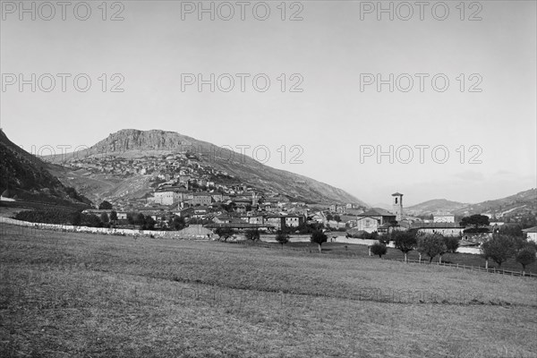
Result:
{"label": "wide open grassy field sloping across the foreground", "polygon": [[2,357],[537,352],[534,278],[255,245],[0,234]]}

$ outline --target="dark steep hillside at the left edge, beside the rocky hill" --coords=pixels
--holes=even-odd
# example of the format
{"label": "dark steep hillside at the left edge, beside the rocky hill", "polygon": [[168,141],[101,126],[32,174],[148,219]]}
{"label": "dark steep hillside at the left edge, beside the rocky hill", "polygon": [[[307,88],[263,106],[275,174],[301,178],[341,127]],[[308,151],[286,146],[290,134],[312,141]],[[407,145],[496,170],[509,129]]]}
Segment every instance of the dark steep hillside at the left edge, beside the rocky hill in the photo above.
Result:
{"label": "dark steep hillside at the left edge, beside the rocky hill", "polygon": [[19,200],[74,207],[91,204],[51,175],[50,164],[15,145],[1,130],[0,166],[0,192],[9,189]]}

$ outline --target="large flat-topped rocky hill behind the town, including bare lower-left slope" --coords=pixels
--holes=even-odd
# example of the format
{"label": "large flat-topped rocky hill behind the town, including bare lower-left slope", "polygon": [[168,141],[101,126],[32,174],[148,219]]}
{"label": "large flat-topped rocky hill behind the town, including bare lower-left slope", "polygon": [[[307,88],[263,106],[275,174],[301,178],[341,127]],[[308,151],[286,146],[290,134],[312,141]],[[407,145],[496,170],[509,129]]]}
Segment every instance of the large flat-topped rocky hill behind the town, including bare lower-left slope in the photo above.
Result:
{"label": "large flat-topped rocky hill behind the town, including bare lower-left slope", "polygon": [[[63,169],[56,168],[55,175],[64,183],[74,185],[92,200],[115,200],[119,198],[141,198],[152,192],[149,187],[149,175],[118,175],[96,174],[88,169],[90,159],[98,162],[99,158],[147,158],[148,165],[155,160],[174,153],[188,152],[192,162],[200,166],[213,168],[226,173],[228,183],[247,183],[263,191],[279,193],[288,200],[306,202],[347,203],[367,206],[359,200],[334,186],[320,183],[307,176],[272,168],[260,164],[253,158],[241,156],[232,150],[217,147],[206,141],[198,141],[192,137],[159,130],[139,131],[125,129],[110,134],[90,149],[69,153],[66,162],[59,156],[48,157]],[[72,163],[83,158],[80,169],[72,170]],[[124,166],[125,171],[129,169]]]}

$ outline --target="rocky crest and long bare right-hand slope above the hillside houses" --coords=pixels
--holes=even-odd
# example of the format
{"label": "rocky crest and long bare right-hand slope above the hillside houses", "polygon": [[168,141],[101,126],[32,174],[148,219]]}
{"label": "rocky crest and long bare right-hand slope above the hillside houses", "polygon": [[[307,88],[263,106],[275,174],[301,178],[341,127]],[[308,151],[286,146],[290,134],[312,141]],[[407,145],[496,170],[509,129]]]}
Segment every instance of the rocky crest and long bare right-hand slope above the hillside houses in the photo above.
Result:
{"label": "rocky crest and long bare right-hand slope above the hillside houses", "polygon": [[[265,166],[257,160],[240,155],[233,150],[218,147],[207,141],[199,141],[190,136],[163,130],[141,131],[124,129],[110,133],[88,149],[66,153],[64,156],[47,156],[55,164],[67,164],[76,160],[91,158],[121,157],[141,158],[143,156],[165,156],[166,154],[188,152],[199,159],[201,166],[212,166],[236,178],[237,181],[266,187],[284,196],[311,202],[351,202],[367,207],[362,200],[328,183],[321,183],[305,175]],[[56,175],[66,180],[69,173],[57,171]],[[87,175],[90,176],[90,175]],[[104,180],[100,178],[100,180]],[[112,185],[112,186],[115,186]],[[78,188],[77,188],[78,189]],[[133,189],[134,190],[134,189]],[[83,189],[81,188],[81,191]],[[112,190],[108,192],[114,192]],[[84,192],[90,194],[89,192]],[[103,192],[98,198],[107,197]],[[107,198],[111,199],[111,198]]]}

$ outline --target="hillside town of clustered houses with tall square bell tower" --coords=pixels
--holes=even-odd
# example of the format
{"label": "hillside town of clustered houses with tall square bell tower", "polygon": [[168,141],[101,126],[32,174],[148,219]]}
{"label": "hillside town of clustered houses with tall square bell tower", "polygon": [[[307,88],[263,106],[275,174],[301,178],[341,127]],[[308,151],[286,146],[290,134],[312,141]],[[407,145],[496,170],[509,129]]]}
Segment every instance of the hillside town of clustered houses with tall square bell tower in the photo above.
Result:
{"label": "hillside town of clustered houses with tall square bell tower", "polygon": [[[151,227],[155,229],[171,228],[176,218],[180,218],[184,226],[202,225],[213,231],[226,227],[239,232],[256,229],[269,233],[285,230],[299,234],[301,227],[316,226],[351,238],[370,238],[413,229],[420,234],[454,237],[460,239],[461,246],[469,247],[479,246],[508,226],[487,214],[482,215],[489,218],[487,224],[479,227],[464,225],[461,217],[447,212],[437,212],[430,217],[405,215],[404,194],[400,192],[391,195],[391,210],[366,209],[353,203],[334,203],[322,208],[304,202],[274,200],[272,193],[256,192],[244,183],[218,185],[217,189],[213,183],[203,183],[192,182],[192,179],[181,181],[181,176],[176,181],[162,183],[136,213],[115,210],[110,203],[105,204],[107,208],[86,209],[83,212],[107,217],[104,221],[113,216],[120,224],[132,223],[130,217],[141,214],[151,218]],[[534,226],[524,229],[524,235],[537,243]]]}

